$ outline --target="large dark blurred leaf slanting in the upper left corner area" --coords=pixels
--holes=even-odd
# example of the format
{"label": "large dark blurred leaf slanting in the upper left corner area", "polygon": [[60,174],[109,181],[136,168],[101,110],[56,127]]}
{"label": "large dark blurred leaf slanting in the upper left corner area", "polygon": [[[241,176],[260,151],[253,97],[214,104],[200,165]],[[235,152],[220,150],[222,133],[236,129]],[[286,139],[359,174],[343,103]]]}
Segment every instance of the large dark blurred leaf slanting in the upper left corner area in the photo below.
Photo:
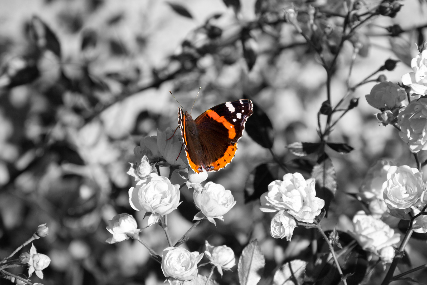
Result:
{"label": "large dark blurred leaf slanting in the upper left corner area", "polygon": [[41,48],[46,48],[52,51],[58,57],[61,57],[61,44],[55,33],[37,16],[33,16],[31,21],[32,32],[34,33],[35,41]]}

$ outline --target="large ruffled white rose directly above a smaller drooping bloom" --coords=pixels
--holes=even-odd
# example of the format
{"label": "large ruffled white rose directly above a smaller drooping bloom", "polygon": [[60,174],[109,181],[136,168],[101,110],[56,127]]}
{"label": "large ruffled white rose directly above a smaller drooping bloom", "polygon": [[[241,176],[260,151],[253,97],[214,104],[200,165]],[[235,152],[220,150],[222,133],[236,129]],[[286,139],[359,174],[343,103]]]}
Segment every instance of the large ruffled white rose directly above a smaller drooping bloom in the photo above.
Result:
{"label": "large ruffled white rose directly above a smaller drooping bloom", "polygon": [[316,197],[316,180],[305,180],[301,173],[287,173],[283,181],[275,180],[268,185],[268,192],[261,195],[261,211],[276,212],[288,210],[295,219],[313,223],[320,214],[325,201]]}

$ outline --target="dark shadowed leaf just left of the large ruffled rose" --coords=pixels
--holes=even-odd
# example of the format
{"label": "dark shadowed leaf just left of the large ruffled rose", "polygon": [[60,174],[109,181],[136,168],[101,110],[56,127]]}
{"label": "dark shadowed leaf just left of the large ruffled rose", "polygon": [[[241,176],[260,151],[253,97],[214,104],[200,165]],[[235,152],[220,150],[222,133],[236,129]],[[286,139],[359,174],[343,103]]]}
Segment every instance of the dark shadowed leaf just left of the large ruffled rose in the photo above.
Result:
{"label": "dark shadowed leaf just left of the large ruffled rose", "polygon": [[268,191],[268,185],[274,177],[267,164],[258,165],[250,174],[245,187],[245,203],[257,200]]}

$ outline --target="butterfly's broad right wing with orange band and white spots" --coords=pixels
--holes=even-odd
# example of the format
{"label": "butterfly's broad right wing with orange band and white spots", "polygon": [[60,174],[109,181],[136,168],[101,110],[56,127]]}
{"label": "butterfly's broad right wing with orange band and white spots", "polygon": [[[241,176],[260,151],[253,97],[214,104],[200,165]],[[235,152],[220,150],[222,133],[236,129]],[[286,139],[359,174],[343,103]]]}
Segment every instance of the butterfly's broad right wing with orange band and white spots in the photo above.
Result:
{"label": "butterfly's broad right wing with orange band and white spots", "polygon": [[218,171],[234,158],[246,120],[253,114],[252,108],[248,99],[225,102],[194,120],[203,150],[201,164],[206,170]]}

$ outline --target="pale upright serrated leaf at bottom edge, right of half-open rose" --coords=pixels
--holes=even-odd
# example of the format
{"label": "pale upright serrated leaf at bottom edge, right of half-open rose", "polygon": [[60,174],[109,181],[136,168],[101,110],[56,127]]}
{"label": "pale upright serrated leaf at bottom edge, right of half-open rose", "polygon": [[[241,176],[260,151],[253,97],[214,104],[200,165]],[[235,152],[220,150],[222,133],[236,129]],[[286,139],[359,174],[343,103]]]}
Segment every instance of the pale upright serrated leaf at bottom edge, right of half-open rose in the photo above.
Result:
{"label": "pale upright serrated leaf at bottom edge, right of half-open rose", "polygon": [[256,239],[243,249],[237,265],[240,285],[256,285],[264,271],[265,258]]}

